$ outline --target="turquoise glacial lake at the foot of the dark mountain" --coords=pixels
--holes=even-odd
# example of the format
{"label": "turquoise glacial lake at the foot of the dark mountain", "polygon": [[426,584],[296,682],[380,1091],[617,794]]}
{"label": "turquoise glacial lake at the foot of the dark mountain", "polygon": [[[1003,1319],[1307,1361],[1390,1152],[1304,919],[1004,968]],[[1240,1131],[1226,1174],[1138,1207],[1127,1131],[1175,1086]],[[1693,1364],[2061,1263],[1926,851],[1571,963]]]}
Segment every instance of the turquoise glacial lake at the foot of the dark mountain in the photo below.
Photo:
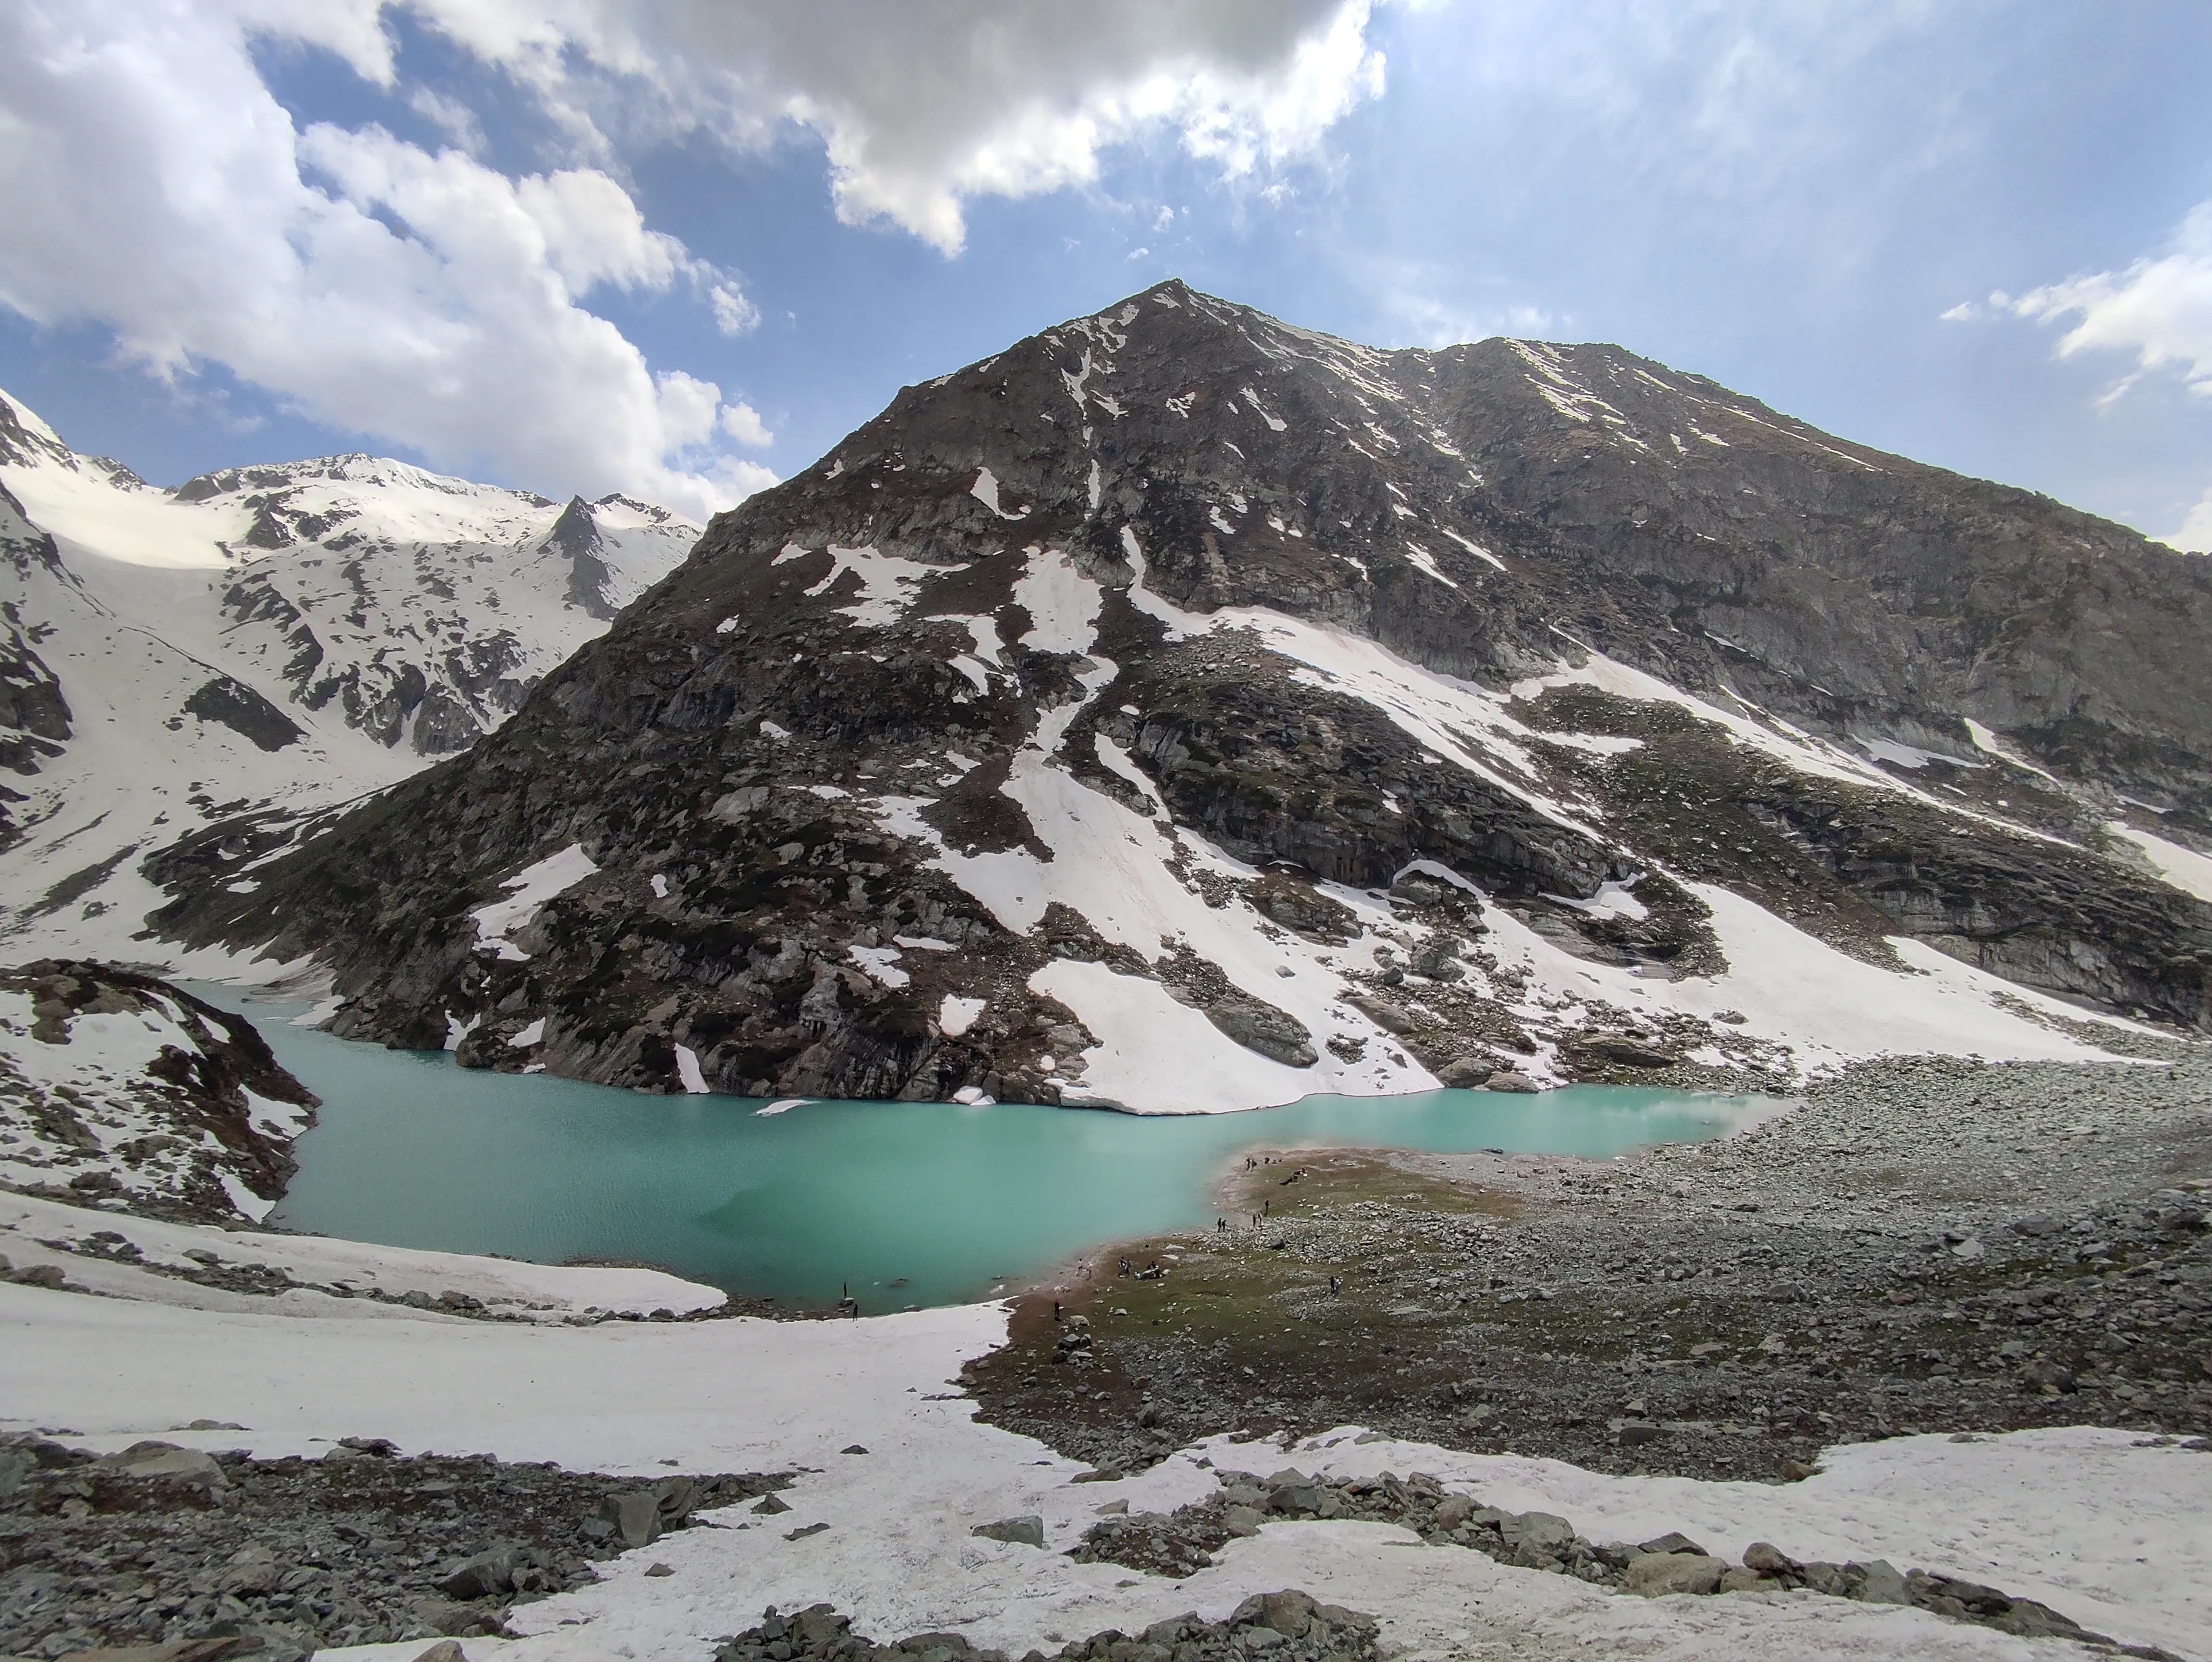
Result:
{"label": "turquoise glacial lake at the foot of the dark mountain", "polygon": [[1026,1104],[641,1095],[487,1073],[241,1009],[321,1098],[272,1222],[389,1246],[635,1259],[712,1286],[865,1312],[956,1303],[1086,1246],[1210,1228],[1212,1180],[1252,1146],[1617,1155],[1745,1124],[1763,1098],[1577,1087],[1307,1098],[1250,1113],[1137,1118]]}

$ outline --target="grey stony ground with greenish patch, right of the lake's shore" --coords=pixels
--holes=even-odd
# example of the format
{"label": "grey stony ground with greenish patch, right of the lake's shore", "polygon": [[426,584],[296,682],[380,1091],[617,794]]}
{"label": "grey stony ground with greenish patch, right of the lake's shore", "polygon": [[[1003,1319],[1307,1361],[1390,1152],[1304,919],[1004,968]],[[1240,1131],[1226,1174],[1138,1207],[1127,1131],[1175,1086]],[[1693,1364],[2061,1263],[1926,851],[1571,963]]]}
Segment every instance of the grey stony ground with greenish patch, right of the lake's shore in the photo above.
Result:
{"label": "grey stony ground with greenish patch, right of the lake's shore", "polygon": [[1225,1228],[1026,1295],[967,1383],[1117,1469],[1345,1423],[1730,1478],[1913,1432],[2192,1436],[2208,1191],[2199,1053],[1876,1062],[1745,1135],[1601,1164],[1283,1151],[1230,1180]]}

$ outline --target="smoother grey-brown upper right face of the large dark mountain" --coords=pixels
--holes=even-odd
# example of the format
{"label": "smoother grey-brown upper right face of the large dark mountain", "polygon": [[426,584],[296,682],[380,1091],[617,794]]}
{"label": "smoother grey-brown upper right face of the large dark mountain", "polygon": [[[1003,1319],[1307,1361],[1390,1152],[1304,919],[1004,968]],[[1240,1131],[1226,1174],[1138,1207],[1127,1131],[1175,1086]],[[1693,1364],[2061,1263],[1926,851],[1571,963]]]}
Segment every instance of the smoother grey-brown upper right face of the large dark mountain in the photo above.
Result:
{"label": "smoother grey-brown upper right face of the large dark mountain", "polygon": [[2062,777],[2212,803],[2212,562],[1619,347],[1440,359],[1493,500],[1644,589],[1754,704],[1966,759],[1973,719]]}

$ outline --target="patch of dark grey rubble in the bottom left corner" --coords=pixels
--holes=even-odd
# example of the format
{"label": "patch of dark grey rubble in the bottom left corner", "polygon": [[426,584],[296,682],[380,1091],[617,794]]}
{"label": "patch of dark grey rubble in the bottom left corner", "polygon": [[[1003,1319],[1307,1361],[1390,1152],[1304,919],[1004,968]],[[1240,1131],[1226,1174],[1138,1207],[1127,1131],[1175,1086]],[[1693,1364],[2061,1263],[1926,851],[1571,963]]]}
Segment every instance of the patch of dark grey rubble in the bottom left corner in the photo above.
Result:
{"label": "patch of dark grey rubble in the bottom left corner", "polygon": [[[659,1483],[396,1458],[358,1441],[323,1458],[252,1461],[168,1443],[95,1458],[0,1443],[0,1655],[257,1638],[257,1662],[321,1647],[495,1633],[507,1609],[588,1585],[591,1562],[648,1547],[692,1514],[787,1476]],[[750,1520],[708,1527],[752,1527]]]}

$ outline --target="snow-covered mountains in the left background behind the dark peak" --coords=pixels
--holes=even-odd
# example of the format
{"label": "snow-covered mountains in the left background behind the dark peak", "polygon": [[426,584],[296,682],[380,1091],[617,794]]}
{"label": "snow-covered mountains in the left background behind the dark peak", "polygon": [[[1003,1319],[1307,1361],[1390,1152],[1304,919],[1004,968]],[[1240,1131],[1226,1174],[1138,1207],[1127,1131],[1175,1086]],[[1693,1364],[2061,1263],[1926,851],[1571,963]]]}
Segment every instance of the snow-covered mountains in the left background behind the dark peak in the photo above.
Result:
{"label": "snow-covered mountains in the left background behind the dark peak", "polygon": [[159,489],[0,394],[0,941],[148,956],[146,859],[467,748],[697,536],[378,456]]}

